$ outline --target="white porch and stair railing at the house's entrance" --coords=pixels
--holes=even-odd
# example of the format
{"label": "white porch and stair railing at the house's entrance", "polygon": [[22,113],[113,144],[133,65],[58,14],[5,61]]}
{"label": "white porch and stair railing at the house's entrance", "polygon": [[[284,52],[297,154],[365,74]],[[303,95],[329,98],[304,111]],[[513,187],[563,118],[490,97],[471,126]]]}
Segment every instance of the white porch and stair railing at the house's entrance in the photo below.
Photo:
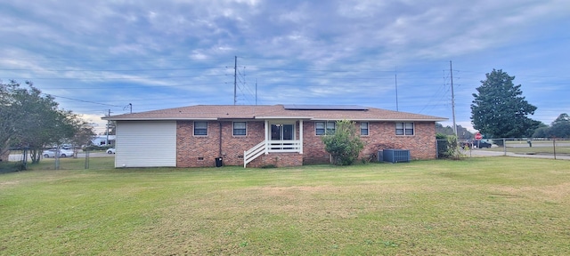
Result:
{"label": "white porch and stair railing at the house's entrance", "polygon": [[243,152],[243,168],[268,153],[302,153],[301,140],[265,140]]}

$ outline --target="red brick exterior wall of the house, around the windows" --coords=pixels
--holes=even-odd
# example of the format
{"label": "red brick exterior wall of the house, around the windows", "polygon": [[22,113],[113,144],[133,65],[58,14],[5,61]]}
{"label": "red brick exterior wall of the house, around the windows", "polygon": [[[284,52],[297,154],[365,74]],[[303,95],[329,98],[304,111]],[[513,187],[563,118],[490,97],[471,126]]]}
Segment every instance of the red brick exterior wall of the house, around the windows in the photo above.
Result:
{"label": "red brick exterior wall of the house, around the windows", "polygon": [[[264,121],[248,121],[246,136],[233,136],[232,121],[208,121],[208,136],[193,135],[193,121],[177,122],[177,157],[178,167],[216,166],[216,157],[224,157],[225,165],[242,165],[243,151],[265,140]],[[222,124],[222,153],[220,155],[220,124]],[[360,124],[356,124],[359,125]],[[298,122],[297,122],[297,139]],[[394,122],[370,122],[369,135],[361,136],[365,143],[360,157],[377,154],[385,148],[410,149],[412,159],[431,159],[436,157],[436,125],[433,122],[414,122],[413,136],[396,136]],[[303,125],[303,155],[297,153],[273,153],[259,156],[248,164],[261,167],[298,166],[301,164],[328,164],[330,155],[324,151],[321,137],[315,135],[314,122]],[[202,157],[200,160],[199,157]]]}

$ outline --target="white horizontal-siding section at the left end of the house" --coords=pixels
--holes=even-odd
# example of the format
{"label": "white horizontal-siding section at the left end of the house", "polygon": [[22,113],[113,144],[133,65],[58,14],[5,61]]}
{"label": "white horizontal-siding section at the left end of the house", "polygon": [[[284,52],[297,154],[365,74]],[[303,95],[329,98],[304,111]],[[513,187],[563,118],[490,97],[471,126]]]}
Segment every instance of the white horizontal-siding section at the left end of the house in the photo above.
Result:
{"label": "white horizontal-siding section at the left end of the house", "polygon": [[175,121],[118,121],[115,167],[176,166]]}

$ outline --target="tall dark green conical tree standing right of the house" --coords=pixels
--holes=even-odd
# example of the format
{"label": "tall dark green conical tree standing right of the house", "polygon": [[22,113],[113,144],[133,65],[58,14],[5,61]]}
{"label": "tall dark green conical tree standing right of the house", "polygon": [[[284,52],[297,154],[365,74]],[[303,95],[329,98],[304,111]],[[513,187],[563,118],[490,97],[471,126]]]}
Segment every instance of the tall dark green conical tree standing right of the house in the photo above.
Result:
{"label": "tall dark green conical tree standing right of the house", "polygon": [[473,93],[471,121],[473,127],[491,138],[532,136],[540,122],[528,118],[536,107],[521,96],[521,85],[513,84],[515,76],[501,69],[485,74],[486,79]]}

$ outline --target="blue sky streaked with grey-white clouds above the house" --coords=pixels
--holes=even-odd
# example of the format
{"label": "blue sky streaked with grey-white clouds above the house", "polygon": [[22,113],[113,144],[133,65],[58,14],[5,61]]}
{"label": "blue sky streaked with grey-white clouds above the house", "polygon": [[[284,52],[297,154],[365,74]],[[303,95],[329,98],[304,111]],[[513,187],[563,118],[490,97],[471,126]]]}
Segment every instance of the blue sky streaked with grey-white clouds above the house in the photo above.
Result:
{"label": "blue sky streaked with grey-white clouds above the house", "polygon": [[567,0],[4,0],[0,36],[2,82],[32,81],[100,129],[130,106],[234,102],[451,124],[452,84],[457,123],[470,127],[472,93],[493,68],[516,76],[531,118],[570,113]]}

